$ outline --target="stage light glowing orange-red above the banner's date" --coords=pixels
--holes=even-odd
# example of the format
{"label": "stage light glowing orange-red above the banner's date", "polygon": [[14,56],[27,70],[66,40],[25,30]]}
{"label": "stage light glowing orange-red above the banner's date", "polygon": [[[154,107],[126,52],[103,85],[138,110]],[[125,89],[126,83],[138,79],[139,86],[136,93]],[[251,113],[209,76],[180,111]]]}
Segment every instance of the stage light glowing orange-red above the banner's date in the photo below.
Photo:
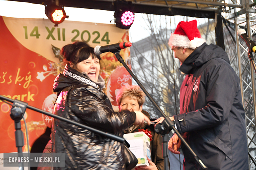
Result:
{"label": "stage light glowing orange-red above the banner's date", "polygon": [[66,15],[63,7],[59,7],[54,4],[45,6],[45,14],[50,19],[50,21],[55,24],[54,26],[58,26],[58,24],[62,23],[65,18],[69,18],[69,16]]}

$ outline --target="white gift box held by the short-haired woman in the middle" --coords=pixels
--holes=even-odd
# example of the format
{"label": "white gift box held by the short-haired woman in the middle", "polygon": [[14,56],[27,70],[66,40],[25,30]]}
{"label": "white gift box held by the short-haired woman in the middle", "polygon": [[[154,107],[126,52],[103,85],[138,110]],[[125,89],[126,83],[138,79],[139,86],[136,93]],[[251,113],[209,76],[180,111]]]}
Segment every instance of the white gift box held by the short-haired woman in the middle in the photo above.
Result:
{"label": "white gift box held by the short-haired woman in the middle", "polygon": [[144,132],[127,133],[124,139],[130,144],[129,149],[138,159],[137,166],[150,166],[147,157],[151,160],[150,139]]}

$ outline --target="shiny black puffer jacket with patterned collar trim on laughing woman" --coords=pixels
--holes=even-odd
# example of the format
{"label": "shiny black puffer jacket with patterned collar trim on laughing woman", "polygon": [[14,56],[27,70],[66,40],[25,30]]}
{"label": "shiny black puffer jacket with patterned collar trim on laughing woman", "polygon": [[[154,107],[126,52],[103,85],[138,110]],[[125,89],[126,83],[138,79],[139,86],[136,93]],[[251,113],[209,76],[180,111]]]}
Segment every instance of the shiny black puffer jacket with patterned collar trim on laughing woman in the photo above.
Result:
{"label": "shiny black puffer jacket with patterned collar trim on laughing woman", "polygon": [[[134,123],[136,114],[114,112],[102,91],[101,76],[95,83],[83,73],[66,65],[53,85],[58,92],[54,114],[72,121],[119,135]],[[124,169],[123,144],[69,123],[54,119],[53,152],[65,153],[65,167],[54,169],[118,170]]]}

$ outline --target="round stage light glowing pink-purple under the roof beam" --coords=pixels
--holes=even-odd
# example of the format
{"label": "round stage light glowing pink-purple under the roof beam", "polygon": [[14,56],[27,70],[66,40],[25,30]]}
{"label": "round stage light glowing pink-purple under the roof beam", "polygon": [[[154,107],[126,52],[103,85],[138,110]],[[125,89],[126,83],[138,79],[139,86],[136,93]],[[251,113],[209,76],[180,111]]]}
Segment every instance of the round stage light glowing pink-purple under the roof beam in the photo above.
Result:
{"label": "round stage light glowing pink-purple under the roof beam", "polygon": [[129,29],[134,22],[134,13],[129,9],[119,9],[114,16],[118,28]]}

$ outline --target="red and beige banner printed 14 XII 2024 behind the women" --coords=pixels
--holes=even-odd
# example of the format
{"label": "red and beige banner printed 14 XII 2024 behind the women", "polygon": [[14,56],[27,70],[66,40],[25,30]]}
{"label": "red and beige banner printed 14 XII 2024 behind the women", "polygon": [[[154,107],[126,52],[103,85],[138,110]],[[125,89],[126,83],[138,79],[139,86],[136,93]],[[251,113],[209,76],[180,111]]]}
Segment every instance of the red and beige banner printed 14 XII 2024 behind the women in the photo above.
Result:
{"label": "red and beige banner printed 14 XII 2024 behind the women", "polygon": [[[30,106],[53,112],[56,94],[54,78],[63,71],[60,48],[73,41],[87,41],[91,46],[129,42],[128,30],[115,25],[64,21],[59,27],[46,19],[18,19],[0,16],[0,95],[18,99]],[[130,63],[130,49],[120,55]],[[131,76],[112,53],[101,55],[105,68],[101,76],[106,81],[106,93],[117,110],[115,97],[118,89],[131,84]],[[130,65],[129,65],[130,66]],[[0,153],[17,152],[14,121],[9,112],[11,106],[0,101]],[[25,120],[29,132],[30,147],[51,127],[52,118],[27,109]],[[23,151],[27,151],[24,121]],[[0,165],[1,167],[2,165]]]}

